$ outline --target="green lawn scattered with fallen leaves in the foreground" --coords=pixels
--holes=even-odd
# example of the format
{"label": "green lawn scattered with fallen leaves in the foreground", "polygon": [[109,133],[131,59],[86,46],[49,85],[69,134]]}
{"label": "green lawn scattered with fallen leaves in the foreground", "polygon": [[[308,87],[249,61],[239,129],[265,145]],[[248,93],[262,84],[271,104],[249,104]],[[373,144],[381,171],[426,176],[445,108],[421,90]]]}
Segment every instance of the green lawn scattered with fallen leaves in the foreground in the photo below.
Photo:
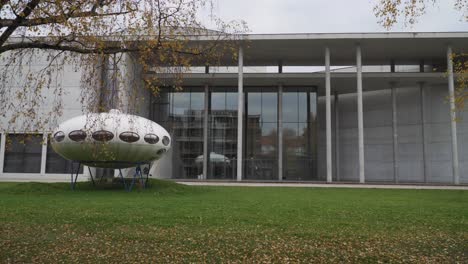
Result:
{"label": "green lawn scattered with fallen leaves in the foreground", "polygon": [[1,262],[468,262],[468,191],[0,183]]}

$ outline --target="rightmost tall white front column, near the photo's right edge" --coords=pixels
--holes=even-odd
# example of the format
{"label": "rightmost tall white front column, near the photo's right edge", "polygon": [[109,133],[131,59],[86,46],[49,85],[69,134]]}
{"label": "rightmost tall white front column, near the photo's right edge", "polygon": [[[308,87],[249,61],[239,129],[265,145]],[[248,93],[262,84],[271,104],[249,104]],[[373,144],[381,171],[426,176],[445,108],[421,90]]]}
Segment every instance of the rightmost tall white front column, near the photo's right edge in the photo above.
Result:
{"label": "rightmost tall white front column, near the photo's right edge", "polygon": [[452,47],[447,47],[447,72],[448,72],[448,88],[450,99],[450,123],[452,132],[452,167],[453,167],[453,184],[460,184],[460,175],[458,168],[458,146],[457,146],[457,122],[455,108],[455,81],[453,77],[453,61]]}

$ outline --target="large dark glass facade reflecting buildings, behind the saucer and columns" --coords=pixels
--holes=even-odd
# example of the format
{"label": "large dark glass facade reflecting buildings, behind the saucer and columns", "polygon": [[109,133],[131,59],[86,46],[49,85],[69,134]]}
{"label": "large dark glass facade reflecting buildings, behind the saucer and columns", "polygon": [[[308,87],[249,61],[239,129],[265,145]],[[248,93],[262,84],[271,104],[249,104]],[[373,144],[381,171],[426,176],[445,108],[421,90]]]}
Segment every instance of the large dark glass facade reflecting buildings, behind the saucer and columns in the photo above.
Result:
{"label": "large dark glass facade reflecting buildings, behind the saucer and columns", "polygon": [[[237,177],[237,148],[243,144],[243,179],[278,180],[278,117],[283,115],[283,179],[316,180],[317,96],[313,87],[245,87],[244,142],[237,142],[237,87],[210,87],[207,179]],[[172,136],[173,178],[203,175],[203,87],[162,89],[151,104],[151,119]]]}

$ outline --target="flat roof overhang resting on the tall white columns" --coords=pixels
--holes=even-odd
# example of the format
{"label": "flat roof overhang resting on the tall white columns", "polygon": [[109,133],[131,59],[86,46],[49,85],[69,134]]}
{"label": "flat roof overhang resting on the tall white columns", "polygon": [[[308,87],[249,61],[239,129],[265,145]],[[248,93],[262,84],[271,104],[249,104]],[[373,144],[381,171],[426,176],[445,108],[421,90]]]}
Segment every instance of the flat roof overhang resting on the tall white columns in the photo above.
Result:
{"label": "flat roof overhang resting on the tall white columns", "polygon": [[[191,41],[202,45],[219,41],[213,38],[198,36]],[[357,45],[365,65],[388,65],[391,60],[417,65],[421,61],[443,64],[448,45],[454,52],[467,52],[468,32],[252,34],[234,40],[244,46],[246,66],[321,66],[325,47],[330,48],[332,65],[354,65]],[[236,66],[237,62],[227,54],[220,65]]]}

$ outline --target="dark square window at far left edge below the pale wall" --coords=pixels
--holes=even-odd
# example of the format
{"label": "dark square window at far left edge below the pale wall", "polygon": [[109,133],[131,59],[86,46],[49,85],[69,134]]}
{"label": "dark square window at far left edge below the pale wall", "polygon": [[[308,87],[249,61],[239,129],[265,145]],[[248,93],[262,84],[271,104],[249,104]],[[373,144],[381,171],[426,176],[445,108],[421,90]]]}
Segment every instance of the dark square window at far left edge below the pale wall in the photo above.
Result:
{"label": "dark square window at far left edge below the pale wall", "polygon": [[3,172],[40,173],[41,134],[8,134],[6,136]]}

